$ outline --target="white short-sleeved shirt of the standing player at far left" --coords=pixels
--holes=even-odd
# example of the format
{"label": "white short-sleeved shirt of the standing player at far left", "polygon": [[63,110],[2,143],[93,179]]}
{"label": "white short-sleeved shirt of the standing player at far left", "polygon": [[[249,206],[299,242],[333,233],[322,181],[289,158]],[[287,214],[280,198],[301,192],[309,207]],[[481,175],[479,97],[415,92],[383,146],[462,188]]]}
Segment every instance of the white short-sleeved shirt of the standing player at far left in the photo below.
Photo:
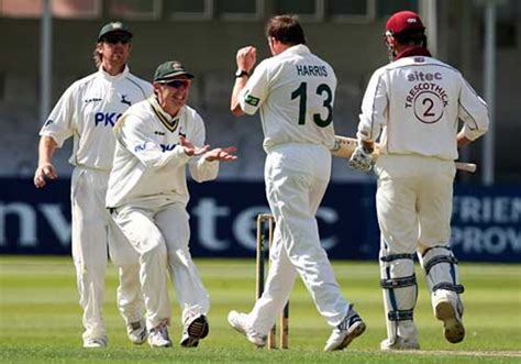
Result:
{"label": "white short-sleeved shirt of the standing player at far left", "polygon": [[69,163],[110,170],[114,155],[114,126],[133,103],[152,95],[152,85],[130,74],[111,76],[100,69],[74,82],[60,97],[40,135],[52,136],[58,147],[74,136]]}

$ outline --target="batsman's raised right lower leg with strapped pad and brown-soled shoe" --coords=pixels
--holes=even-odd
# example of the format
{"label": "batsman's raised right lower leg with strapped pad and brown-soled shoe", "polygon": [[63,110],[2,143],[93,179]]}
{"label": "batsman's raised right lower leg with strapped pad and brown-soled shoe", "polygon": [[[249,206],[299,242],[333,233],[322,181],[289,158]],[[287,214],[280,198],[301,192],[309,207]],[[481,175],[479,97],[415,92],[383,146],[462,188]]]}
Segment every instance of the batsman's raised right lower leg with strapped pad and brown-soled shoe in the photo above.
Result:
{"label": "batsman's raised right lower leg with strapped pad and brown-soled shoe", "polygon": [[457,343],[465,338],[463,304],[459,294],[464,288],[457,279],[457,261],[447,246],[433,246],[423,252],[420,263],[426,274],[431,290],[434,316],[443,321],[448,342]]}

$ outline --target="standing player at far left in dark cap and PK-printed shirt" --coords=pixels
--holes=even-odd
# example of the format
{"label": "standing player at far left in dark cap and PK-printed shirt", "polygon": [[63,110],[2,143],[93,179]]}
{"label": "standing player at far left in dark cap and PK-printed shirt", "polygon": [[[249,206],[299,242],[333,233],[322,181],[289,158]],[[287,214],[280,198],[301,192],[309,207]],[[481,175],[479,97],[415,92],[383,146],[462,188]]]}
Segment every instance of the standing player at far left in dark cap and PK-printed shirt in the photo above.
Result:
{"label": "standing player at far left in dark cap and PK-printed shirt", "polygon": [[70,164],[73,258],[77,272],[79,302],[84,309],[85,348],[107,346],[102,318],[107,242],[119,267],[118,306],[128,334],[136,344],[146,339],[142,319],[137,256],[110,219],[104,198],[114,154],[112,126],[134,102],[152,93],[152,85],[131,75],[126,66],[132,33],[120,22],[106,24],[98,36],[95,60],[98,71],[74,82],[62,96],[40,132],[38,167],[34,185],[57,178],[52,163],[54,151],[74,137]]}

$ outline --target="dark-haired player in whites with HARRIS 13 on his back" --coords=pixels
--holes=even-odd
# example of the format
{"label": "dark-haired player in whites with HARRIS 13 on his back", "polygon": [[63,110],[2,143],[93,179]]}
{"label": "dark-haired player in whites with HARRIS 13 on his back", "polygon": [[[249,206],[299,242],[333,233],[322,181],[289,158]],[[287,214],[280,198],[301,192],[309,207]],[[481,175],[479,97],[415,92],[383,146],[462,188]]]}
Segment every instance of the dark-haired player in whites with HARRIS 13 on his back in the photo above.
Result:
{"label": "dark-haired player in whites with HARRIS 13 on his back", "polygon": [[271,18],[266,36],[273,57],[263,60],[251,77],[256,49],[247,46],[237,52],[231,110],[235,115],[260,110],[266,195],[276,221],[271,265],[253,310],[247,315],[231,311],[229,322],[248,341],[264,346],[300,275],[317,309],[333,327],[324,350],[342,350],[364,332],[365,323],[342,297],[315,219],[331,176],[336,77],[306,46],[296,18]]}

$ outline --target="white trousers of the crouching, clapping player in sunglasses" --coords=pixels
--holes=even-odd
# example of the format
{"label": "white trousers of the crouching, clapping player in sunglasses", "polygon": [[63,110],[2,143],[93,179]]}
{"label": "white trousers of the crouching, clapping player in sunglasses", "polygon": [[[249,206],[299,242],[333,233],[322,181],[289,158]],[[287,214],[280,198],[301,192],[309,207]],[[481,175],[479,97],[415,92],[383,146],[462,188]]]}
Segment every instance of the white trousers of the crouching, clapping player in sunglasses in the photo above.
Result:
{"label": "white trousers of the crouching, clapping player in sunglasses", "polygon": [[181,323],[188,317],[207,315],[210,299],[189,252],[190,227],[185,206],[158,197],[122,206],[112,216],[140,255],[147,328],[170,321],[167,271],[182,311]]}

